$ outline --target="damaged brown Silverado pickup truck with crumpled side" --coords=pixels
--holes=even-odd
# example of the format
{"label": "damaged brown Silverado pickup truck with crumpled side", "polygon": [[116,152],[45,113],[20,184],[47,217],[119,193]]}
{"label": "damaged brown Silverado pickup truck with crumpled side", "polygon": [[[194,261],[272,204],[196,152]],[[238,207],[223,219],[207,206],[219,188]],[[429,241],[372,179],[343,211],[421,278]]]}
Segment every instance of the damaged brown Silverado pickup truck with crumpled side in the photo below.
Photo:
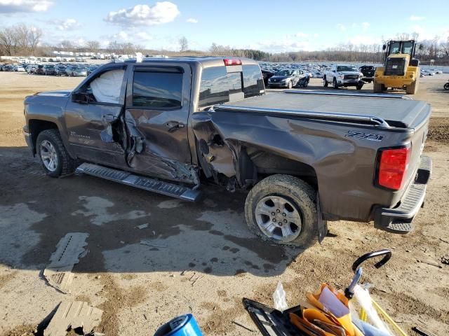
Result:
{"label": "damaged brown Silverado pickup truck with crumpled side", "polygon": [[307,247],[327,221],[412,230],[431,174],[430,111],[392,94],[265,94],[250,59],[143,59],[27,97],[24,133],[48,176],[76,171],[189,201],[206,184],[250,190],[250,230]]}

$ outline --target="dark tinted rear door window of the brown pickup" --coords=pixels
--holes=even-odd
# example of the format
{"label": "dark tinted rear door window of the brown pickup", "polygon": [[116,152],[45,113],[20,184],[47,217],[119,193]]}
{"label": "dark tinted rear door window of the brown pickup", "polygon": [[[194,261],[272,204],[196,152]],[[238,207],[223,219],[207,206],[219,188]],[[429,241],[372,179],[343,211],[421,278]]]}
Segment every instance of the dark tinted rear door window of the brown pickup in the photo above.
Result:
{"label": "dark tinted rear door window of the brown pickup", "polygon": [[181,97],[181,72],[135,71],[133,106],[148,109],[180,109]]}

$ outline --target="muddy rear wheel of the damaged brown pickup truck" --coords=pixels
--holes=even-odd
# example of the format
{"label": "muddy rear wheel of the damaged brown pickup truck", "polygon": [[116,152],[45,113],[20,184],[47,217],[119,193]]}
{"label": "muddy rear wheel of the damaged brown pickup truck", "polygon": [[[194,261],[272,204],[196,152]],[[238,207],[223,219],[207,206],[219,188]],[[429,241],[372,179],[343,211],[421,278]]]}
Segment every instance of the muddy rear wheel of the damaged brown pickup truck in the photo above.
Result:
{"label": "muddy rear wheel of the damaged brown pickup truck", "polygon": [[245,202],[248,228],[275,244],[307,248],[316,242],[316,192],[289,175],[272,175],[250,190]]}

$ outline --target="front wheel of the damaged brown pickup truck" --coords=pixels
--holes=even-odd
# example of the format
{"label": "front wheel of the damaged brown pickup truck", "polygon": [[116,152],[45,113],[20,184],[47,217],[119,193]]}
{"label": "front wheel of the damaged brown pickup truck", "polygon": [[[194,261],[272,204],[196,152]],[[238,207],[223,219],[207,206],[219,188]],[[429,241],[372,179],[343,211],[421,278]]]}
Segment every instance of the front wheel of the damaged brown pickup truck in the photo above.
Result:
{"label": "front wheel of the damaged brown pickup truck", "polygon": [[45,130],[39,133],[36,151],[48,176],[58,177],[74,172],[76,160],[72,159],[65,149],[58,130]]}

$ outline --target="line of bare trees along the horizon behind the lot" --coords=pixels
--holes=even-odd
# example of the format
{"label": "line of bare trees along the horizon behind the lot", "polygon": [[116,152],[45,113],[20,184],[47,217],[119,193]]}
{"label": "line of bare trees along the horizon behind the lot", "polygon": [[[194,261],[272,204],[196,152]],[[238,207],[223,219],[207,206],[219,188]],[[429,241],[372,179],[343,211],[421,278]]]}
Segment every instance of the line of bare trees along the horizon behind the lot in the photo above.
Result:
{"label": "line of bare trees along the horizon behind the lot", "polygon": [[[416,57],[424,64],[434,60],[434,64],[449,64],[449,36],[446,41],[441,41],[438,36],[433,39],[419,40],[419,34],[398,34],[398,40],[415,39],[422,48],[417,48]],[[86,41],[81,45],[69,40],[60,41],[58,44],[43,43],[42,31],[39,28],[27,27],[25,24],[13,25],[0,29],[0,55],[7,56],[45,56],[53,50],[72,52],[105,52],[118,55],[132,55],[142,52],[144,55],[163,54],[168,56],[182,55],[213,55],[248,57],[257,61],[267,62],[382,62],[382,45],[387,41],[377,44],[353,44],[340,43],[333,48],[317,51],[297,51],[269,53],[254,49],[236,49],[225,45],[212,43],[209,50],[190,50],[189,41],[185,36],[178,40],[179,49],[150,50],[130,42],[111,41],[102,47],[99,41]]]}

